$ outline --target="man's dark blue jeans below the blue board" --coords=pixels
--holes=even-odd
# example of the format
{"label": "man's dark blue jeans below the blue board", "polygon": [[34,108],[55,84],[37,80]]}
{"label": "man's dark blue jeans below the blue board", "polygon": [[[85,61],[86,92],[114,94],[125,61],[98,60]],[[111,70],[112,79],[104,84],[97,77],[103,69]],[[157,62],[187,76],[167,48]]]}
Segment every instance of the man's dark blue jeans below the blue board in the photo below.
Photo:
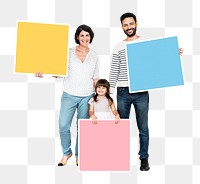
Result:
{"label": "man's dark blue jeans below the blue board", "polygon": [[140,159],[148,159],[149,148],[149,128],[148,128],[148,110],[149,110],[149,93],[129,93],[128,87],[117,88],[117,110],[120,118],[129,119],[131,104],[134,105],[136,121],[140,138]]}

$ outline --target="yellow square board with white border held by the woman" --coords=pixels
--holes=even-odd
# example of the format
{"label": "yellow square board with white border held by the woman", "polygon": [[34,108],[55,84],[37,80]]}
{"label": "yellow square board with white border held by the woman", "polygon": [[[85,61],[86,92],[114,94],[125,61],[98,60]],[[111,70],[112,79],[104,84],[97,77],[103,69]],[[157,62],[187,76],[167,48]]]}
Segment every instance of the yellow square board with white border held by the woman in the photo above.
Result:
{"label": "yellow square board with white border held by the woman", "polygon": [[15,72],[67,75],[69,25],[18,22]]}

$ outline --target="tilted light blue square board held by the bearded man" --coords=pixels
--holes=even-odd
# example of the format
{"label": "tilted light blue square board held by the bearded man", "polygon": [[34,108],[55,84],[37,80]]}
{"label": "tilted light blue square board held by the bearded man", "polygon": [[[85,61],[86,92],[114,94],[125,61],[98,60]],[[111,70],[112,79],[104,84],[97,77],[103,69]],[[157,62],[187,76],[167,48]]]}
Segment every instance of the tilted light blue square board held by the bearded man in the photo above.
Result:
{"label": "tilted light blue square board held by the bearded man", "polygon": [[129,92],[184,85],[177,37],[126,44]]}

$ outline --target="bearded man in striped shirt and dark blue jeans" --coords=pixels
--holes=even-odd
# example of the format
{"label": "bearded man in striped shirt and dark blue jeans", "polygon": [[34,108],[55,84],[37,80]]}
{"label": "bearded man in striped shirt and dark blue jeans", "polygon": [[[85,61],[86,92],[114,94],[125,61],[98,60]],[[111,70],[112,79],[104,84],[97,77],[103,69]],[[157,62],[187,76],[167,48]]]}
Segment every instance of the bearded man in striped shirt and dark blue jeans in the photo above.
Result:
{"label": "bearded man in striped shirt and dark blue jeans", "polygon": [[117,110],[120,118],[129,119],[131,105],[134,105],[137,126],[140,138],[140,160],[141,171],[148,171],[150,169],[148,163],[148,147],[149,147],[149,128],[148,128],[148,110],[149,110],[149,94],[148,92],[129,93],[128,87],[128,73],[127,73],[127,59],[125,52],[125,43],[134,40],[142,40],[136,34],[137,19],[132,13],[125,13],[121,16],[121,25],[126,39],[116,45],[110,68],[109,82],[111,86],[111,93],[114,92],[116,83],[117,87]]}

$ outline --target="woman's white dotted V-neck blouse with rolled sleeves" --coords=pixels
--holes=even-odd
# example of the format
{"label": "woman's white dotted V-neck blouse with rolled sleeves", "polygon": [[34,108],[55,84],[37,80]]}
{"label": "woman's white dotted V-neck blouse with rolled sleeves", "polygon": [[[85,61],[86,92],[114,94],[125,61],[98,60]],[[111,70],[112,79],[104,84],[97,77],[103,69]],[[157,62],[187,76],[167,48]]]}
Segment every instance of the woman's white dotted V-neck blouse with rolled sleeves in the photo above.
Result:
{"label": "woman's white dotted V-neck blouse with rolled sleeves", "polygon": [[68,76],[63,81],[63,91],[73,96],[94,93],[94,80],[99,78],[99,56],[92,49],[84,62],[76,56],[76,47],[69,49]]}

